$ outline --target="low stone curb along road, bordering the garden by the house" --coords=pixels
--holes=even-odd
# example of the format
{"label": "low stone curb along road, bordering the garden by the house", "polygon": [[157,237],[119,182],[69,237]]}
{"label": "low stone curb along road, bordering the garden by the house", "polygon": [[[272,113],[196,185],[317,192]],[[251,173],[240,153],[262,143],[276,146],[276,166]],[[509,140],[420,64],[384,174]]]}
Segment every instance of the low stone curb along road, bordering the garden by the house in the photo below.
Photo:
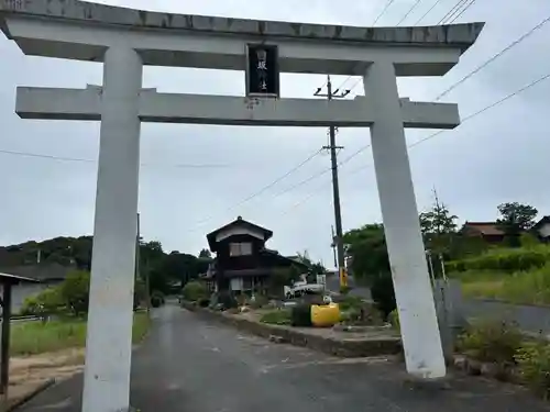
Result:
{"label": "low stone curb along road, bordering the garden by the house", "polygon": [[334,339],[326,336],[318,336],[302,331],[279,325],[270,325],[254,322],[248,319],[239,319],[223,312],[216,312],[205,308],[198,308],[189,302],[182,302],[182,307],[193,311],[206,319],[215,320],[240,331],[261,336],[272,342],[288,343],[295,346],[308,347],[329,355],[356,358],[381,355],[396,355],[402,352],[402,342],[398,337],[387,337],[378,339]]}

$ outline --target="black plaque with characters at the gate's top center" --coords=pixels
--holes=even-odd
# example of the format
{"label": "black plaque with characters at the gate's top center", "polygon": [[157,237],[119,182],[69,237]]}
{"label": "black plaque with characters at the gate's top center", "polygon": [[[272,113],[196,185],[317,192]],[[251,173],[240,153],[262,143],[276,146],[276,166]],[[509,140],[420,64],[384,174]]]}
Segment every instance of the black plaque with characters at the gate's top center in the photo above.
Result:
{"label": "black plaque with characters at the gate's top center", "polygon": [[275,45],[246,45],[246,96],[279,97],[278,49]]}

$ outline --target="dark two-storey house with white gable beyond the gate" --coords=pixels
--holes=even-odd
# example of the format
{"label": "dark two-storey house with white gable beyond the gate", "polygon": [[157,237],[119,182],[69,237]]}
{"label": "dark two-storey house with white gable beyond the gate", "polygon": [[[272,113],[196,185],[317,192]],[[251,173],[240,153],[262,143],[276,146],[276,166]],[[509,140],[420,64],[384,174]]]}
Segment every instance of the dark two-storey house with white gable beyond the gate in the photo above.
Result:
{"label": "dark two-storey house with white gable beyond the gate", "polygon": [[239,216],[207,235],[210,250],[216,253],[207,280],[216,290],[237,293],[265,290],[273,274],[280,268],[307,266],[299,260],[268,249],[265,243],[273,232]]}

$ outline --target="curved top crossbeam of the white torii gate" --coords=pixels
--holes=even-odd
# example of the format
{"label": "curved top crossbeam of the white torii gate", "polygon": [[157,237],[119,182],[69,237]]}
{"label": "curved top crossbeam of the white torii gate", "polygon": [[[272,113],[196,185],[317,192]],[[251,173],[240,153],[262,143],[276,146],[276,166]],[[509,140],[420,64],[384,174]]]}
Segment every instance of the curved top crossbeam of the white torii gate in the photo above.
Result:
{"label": "curved top crossbeam of the white torii gate", "polygon": [[[47,24],[32,24],[45,18]],[[286,73],[362,75],[370,62],[386,57],[397,76],[441,76],[475,42],[483,23],[356,27],[161,13],[76,0],[0,0],[0,27],[25,54],[36,56],[101,62],[106,47],[123,38],[145,65],[244,70],[245,43],[262,41],[278,45],[280,71]]]}

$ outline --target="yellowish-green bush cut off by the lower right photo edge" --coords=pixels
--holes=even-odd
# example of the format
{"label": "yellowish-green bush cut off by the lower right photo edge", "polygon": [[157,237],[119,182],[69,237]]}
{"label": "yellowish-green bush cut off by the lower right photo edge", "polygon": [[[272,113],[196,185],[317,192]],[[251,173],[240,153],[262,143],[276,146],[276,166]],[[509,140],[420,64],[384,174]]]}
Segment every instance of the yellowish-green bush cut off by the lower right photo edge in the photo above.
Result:
{"label": "yellowish-green bush cut off by the lower right photo edge", "polygon": [[550,397],[550,345],[527,343],[515,356],[524,382],[544,399]]}

